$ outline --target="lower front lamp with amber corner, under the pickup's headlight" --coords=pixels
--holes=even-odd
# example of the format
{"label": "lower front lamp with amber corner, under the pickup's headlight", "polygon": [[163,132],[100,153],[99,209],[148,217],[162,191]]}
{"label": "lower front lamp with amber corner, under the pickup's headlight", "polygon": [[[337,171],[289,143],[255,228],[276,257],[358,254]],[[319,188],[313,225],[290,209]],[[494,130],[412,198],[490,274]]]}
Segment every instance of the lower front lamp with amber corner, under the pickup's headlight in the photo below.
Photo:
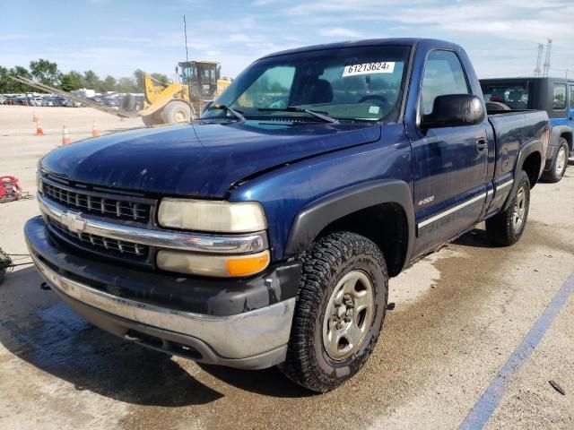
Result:
{"label": "lower front lamp with amber corner, under the pickup's headlight", "polygon": [[163,271],[178,271],[192,275],[231,278],[249,276],[269,265],[269,251],[249,255],[202,255],[180,251],[160,251],[158,267]]}

